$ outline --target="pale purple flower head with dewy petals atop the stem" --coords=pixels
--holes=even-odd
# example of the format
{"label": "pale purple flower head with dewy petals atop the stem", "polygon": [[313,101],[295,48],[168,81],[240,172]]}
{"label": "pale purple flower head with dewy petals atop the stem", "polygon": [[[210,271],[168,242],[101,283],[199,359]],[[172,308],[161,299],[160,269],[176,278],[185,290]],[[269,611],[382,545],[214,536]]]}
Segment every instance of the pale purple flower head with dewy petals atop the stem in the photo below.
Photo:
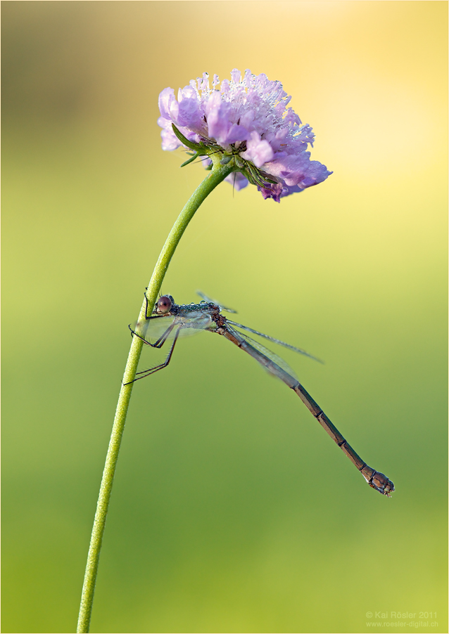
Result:
{"label": "pale purple flower head with dewy petals atop the stem", "polygon": [[[327,167],[310,160],[308,145],[315,135],[309,125],[292,108],[291,97],[280,82],[270,82],[266,75],[246,70],[231,73],[221,88],[214,75],[212,90],[208,73],[203,73],[189,86],[179,89],[178,98],[172,88],[159,95],[163,150],[194,148],[198,156],[222,154],[222,162],[234,160],[235,172],[227,177],[236,189],[248,182],[257,186],[263,198],[277,202],[289,194],[322,183],[329,174]],[[176,132],[181,134],[175,134]],[[182,142],[184,139],[184,143]]]}

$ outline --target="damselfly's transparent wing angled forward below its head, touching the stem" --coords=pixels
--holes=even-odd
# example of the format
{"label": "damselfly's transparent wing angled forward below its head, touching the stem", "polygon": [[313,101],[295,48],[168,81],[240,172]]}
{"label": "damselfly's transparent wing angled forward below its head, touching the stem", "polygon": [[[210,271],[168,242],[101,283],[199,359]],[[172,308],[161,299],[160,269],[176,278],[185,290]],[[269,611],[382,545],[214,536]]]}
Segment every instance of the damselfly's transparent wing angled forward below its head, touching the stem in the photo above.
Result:
{"label": "damselfly's transparent wing angled forward below its head, touching the stem", "polygon": [[131,330],[139,337],[148,342],[154,343],[167,333],[167,339],[175,336],[178,328],[179,337],[196,335],[197,332],[205,330],[211,323],[208,313],[192,311],[181,317],[160,316],[142,319],[130,325]]}

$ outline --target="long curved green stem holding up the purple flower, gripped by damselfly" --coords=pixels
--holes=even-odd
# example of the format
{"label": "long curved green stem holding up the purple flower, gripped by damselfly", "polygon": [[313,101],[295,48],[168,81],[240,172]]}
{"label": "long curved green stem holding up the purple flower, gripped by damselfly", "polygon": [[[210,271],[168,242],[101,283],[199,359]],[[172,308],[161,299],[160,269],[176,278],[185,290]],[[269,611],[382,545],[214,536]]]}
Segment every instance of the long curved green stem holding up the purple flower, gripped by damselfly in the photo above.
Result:
{"label": "long curved green stem holding up the purple flower, gripped by damselfly", "polygon": [[[160,291],[160,287],[162,285],[165,272],[167,271],[167,267],[172,259],[172,255],[175,252],[182,234],[186,230],[186,226],[193,218],[196,209],[198,209],[210,192],[234,170],[234,166],[231,167],[229,164],[220,165],[219,158],[217,156],[213,156],[211,158],[214,163],[212,171],[208,173],[208,176],[206,176],[201,185],[196,188],[194,193],[191,195],[191,198],[189,198],[189,201],[186,202],[184,209],[182,209],[182,212],[179,214],[177,221],[172,227],[172,231],[170,231],[167,240],[165,240],[163,250],[160,252],[159,259],[154,267],[153,275],[151,276],[150,283],[148,284],[148,290],[146,292],[148,297],[148,306],[150,308],[156,304],[158,292]],[[144,301],[139,313],[139,320],[144,319],[146,316],[145,311],[146,302]],[[134,385],[131,381],[134,380],[137,372],[137,365],[139,363],[142,347],[143,343],[141,342],[141,339],[139,339],[139,337],[133,337],[125,367],[125,373],[123,375],[122,389],[120,389],[120,395],[118,397],[117,410],[115,411],[113,429],[110,435],[108,454],[106,455],[106,464],[103,470],[103,478],[101,479],[99,499],[96,505],[94,527],[92,529],[89,553],[87,555],[86,572],[84,574],[84,584],[82,587],[77,632],[89,632],[92,602],[94,601],[96,574],[99,567],[101,541],[103,540],[110,493],[112,491],[118,452],[120,451],[120,443],[122,441],[123,429],[125,427],[129,399],[131,398],[132,387]]]}

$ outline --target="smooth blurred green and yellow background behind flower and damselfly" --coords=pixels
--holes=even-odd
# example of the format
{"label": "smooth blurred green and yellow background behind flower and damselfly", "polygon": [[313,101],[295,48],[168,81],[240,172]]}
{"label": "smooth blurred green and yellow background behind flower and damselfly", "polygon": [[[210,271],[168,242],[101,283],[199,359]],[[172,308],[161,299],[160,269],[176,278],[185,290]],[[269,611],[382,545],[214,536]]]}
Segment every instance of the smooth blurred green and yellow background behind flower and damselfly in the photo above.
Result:
{"label": "smooth blurred green and yellow background behind flower and damselfly", "polygon": [[10,1],[2,30],[2,630],[75,630],[127,325],[205,176],[160,149],[158,93],[237,67],[334,174],[280,205],[224,183],[163,292],[324,358],[277,350],[396,493],[251,358],[184,339],[134,388],[91,631],[447,632],[447,3]]}

